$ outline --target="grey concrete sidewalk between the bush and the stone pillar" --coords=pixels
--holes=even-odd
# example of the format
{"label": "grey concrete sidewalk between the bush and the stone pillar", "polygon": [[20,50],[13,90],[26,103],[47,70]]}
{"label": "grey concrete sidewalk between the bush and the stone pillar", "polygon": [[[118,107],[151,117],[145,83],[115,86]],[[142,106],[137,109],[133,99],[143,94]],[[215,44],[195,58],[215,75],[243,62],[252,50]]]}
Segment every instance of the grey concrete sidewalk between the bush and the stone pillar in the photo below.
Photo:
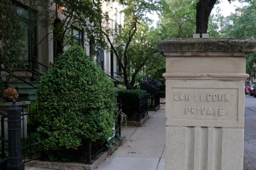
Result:
{"label": "grey concrete sidewalk between the bush and the stone pillar", "polygon": [[96,170],[164,170],[165,105],[149,117],[142,127],[123,127],[126,142]]}

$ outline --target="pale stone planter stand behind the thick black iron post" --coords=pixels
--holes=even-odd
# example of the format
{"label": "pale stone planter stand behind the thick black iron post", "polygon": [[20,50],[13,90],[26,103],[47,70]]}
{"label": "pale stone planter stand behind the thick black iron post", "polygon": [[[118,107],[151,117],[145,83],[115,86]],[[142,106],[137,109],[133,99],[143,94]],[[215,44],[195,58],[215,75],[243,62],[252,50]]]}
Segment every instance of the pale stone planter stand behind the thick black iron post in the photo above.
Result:
{"label": "pale stone planter stand behind the thick black iron post", "polygon": [[[31,102],[30,101],[20,101],[16,102],[16,105],[19,107],[22,107],[24,105],[23,110],[24,112],[21,112],[21,114],[26,114],[28,112],[27,110],[27,105],[29,105]],[[12,105],[12,102],[0,102],[0,110],[6,114],[6,109]],[[0,115],[0,119],[1,119]],[[4,129],[5,129],[5,139],[8,139],[8,131],[7,131],[7,118],[4,118]],[[24,126],[23,126],[24,125]],[[1,121],[0,121],[0,131],[2,130],[1,128]],[[24,127],[24,129],[23,129]],[[27,116],[21,116],[21,137],[27,137]]]}

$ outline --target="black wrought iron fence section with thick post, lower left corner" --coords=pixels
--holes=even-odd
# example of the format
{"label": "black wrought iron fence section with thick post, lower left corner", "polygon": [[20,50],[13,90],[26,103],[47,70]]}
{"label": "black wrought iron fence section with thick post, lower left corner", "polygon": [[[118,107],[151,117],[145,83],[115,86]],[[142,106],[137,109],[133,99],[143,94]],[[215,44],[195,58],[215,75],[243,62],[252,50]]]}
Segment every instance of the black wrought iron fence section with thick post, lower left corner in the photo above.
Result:
{"label": "black wrought iron fence section with thick post, lower left corner", "polygon": [[[35,130],[38,126],[38,119],[33,118],[37,117],[38,112],[28,112],[28,108],[31,109],[31,105],[18,107],[15,102],[9,108],[10,110],[6,109],[5,112],[0,111],[0,141],[2,146],[0,169],[2,170],[6,168],[7,163],[12,166],[18,166],[18,164],[41,157],[38,149],[38,136]],[[16,119],[12,120],[13,117],[16,117]],[[19,152],[19,150],[21,151]]]}

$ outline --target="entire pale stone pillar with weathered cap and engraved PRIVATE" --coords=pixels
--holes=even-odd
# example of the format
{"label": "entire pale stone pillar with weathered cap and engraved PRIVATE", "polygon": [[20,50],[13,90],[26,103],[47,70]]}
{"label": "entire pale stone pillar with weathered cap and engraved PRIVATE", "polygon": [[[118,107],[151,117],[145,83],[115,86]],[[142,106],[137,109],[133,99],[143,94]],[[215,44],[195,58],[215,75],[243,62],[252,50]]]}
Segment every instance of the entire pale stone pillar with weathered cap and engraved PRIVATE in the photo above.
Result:
{"label": "entire pale stone pillar with weathered cap and engraved PRIVATE", "polygon": [[244,39],[170,39],[166,56],[166,170],[242,170]]}

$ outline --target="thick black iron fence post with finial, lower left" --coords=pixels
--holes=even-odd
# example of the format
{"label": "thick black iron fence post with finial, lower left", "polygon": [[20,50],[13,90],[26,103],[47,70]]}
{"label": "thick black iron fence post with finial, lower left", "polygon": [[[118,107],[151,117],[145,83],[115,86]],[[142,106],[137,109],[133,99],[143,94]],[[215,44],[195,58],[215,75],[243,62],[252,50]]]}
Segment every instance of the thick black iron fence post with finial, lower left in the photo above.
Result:
{"label": "thick black iron fence post with finial, lower left", "polygon": [[25,170],[22,163],[21,153],[21,111],[16,105],[16,100],[12,101],[12,106],[6,109],[8,122],[9,156],[7,170]]}

